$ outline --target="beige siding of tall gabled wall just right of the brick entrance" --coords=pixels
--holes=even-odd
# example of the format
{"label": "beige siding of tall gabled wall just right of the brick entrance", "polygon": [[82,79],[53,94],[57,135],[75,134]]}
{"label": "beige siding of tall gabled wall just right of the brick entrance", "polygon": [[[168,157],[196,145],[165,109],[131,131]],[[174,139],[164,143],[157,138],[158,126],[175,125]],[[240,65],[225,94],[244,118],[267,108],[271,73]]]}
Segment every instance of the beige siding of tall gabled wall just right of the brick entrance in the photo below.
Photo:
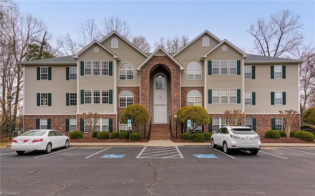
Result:
{"label": "beige siding of tall gabled wall just right of the brick entrance", "polygon": [[[200,58],[202,55],[206,54],[212,48],[219,44],[212,37],[209,37],[210,46],[202,47],[202,38],[199,37],[193,43],[191,43],[186,49],[180,52],[178,55],[174,56],[175,59],[181,63],[185,70],[181,74],[181,86],[182,87],[192,87],[192,86],[203,86],[204,85],[204,61],[201,61]],[[187,66],[190,62],[196,61],[201,65],[201,80],[187,80]]]}

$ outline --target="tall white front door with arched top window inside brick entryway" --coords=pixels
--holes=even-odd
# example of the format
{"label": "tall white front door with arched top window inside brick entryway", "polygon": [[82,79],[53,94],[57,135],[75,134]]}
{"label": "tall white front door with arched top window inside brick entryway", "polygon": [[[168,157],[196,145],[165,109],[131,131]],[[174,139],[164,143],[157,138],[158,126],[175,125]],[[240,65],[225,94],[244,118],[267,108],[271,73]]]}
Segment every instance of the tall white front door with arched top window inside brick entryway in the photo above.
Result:
{"label": "tall white front door with arched top window inside brick entryway", "polygon": [[167,123],[167,90],[164,74],[157,74],[154,78],[154,123]]}

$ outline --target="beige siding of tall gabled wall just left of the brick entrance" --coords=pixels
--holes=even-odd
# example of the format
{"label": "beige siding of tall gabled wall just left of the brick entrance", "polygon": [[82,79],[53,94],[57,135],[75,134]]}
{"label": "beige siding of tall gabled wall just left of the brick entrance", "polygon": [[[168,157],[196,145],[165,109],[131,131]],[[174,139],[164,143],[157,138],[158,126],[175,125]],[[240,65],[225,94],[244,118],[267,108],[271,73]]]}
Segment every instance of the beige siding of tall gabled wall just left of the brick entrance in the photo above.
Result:
{"label": "beige siding of tall gabled wall just left of the brick entrance", "polygon": [[[118,39],[118,48],[111,48],[112,38]],[[116,72],[117,72],[117,86],[139,86],[140,84],[140,74],[136,71],[136,68],[146,59],[146,56],[141,54],[139,51],[134,49],[123,39],[117,35],[109,37],[102,43],[106,48],[119,56],[119,61],[117,62]],[[119,66],[124,63],[129,62],[133,65],[133,80],[119,80]]]}

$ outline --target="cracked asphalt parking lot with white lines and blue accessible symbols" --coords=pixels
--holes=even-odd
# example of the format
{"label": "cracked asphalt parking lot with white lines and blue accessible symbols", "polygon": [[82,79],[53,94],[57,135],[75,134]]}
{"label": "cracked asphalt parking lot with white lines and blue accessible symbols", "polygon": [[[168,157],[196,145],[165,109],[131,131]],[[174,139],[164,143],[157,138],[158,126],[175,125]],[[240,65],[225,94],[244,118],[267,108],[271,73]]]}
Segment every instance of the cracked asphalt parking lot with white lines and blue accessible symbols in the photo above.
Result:
{"label": "cracked asphalt parking lot with white lines and blue accessible symbols", "polygon": [[314,147],[230,155],[209,146],[0,149],[1,195],[314,196]]}

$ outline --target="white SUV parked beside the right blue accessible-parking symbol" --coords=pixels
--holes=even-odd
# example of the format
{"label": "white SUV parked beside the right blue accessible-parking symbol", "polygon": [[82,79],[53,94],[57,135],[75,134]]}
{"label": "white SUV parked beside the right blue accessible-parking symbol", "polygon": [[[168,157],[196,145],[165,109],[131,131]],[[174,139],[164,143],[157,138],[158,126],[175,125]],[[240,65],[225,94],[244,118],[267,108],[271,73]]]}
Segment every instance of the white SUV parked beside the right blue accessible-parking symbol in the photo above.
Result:
{"label": "white SUV parked beside the right blue accessible-parking symbol", "polygon": [[224,153],[232,149],[249,150],[257,154],[261,142],[258,134],[250,127],[223,126],[211,136],[211,147],[222,146]]}

